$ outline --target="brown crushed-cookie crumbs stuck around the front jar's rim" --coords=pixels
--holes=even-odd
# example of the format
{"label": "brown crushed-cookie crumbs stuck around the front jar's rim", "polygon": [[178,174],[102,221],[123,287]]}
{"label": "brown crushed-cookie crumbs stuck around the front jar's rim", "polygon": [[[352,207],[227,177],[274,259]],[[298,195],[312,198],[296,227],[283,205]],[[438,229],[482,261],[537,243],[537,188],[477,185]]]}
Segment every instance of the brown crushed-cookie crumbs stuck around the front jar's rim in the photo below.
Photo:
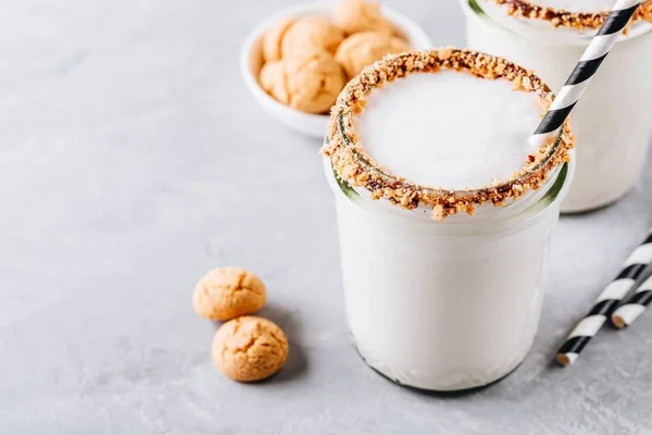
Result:
{"label": "brown crushed-cookie crumbs stuck around the front jar's rim", "polygon": [[[449,57],[441,59],[440,54],[442,51],[448,51]],[[476,206],[481,206],[486,202],[492,202],[494,206],[504,206],[504,201],[507,199],[519,199],[528,190],[537,190],[541,187],[549,178],[550,173],[553,169],[557,167],[561,163],[567,162],[568,151],[573,148],[574,140],[572,138],[568,122],[565,123],[564,128],[560,128],[554,137],[551,137],[549,141],[543,144],[538,150],[531,152],[531,154],[542,154],[539,159],[529,163],[524,162],[524,166],[518,171],[517,175],[512,176],[510,179],[493,185],[486,185],[479,188],[472,189],[446,189],[435,188],[431,186],[423,186],[405,179],[399,175],[389,173],[380,164],[377,164],[371,159],[365,152],[364,147],[361,147],[354,138],[347,132],[348,122],[347,116],[354,117],[355,108],[349,108],[351,102],[356,102],[355,88],[365,80],[369,80],[369,77],[374,73],[381,73],[381,67],[389,66],[392,61],[403,61],[403,66],[406,61],[416,57],[435,57],[439,60],[438,64],[432,64],[432,70],[428,70],[426,65],[417,66],[413,71],[402,70],[402,74],[391,79],[385,79],[384,83],[390,83],[393,79],[404,77],[415,72],[437,73],[440,69],[456,70],[455,65],[449,65],[448,59],[455,57],[468,55],[472,60],[482,58],[489,59],[496,62],[502,62],[506,69],[511,69],[514,76],[507,77],[507,74],[497,74],[493,79],[505,78],[514,82],[516,78],[534,78],[532,89],[527,91],[535,92],[539,97],[542,103],[550,103],[554,95],[550,88],[534,73],[518,66],[503,58],[494,57],[490,54],[480,53],[473,50],[457,50],[457,49],[434,49],[427,51],[417,52],[405,52],[400,54],[390,54],[385,57],[381,61],[365,67],[363,72],[352,79],[342,90],[338,97],[336,105],[331,110],[331,120],[328,134],[328,145],[323,149],[323,153],[330,159],[333,169],[336,175],[346,181],[351,186],[358,186],[365,188],[371,191],[372,199],[385,198],[394,204],[400,204],[404,209],[416,209],[419,204],[426,203],[432,206],[432,219],[442,221],[446,216],[456,214],[457,212],[464,211],[468,214],[474,214]],[[432,58],[430,58],[431,60]],[[457,65],[459,67],[460,65]],[[397,65],[394,64],[394,67]],[[461,70],[480,79],[488,79],[479,74],[473,73],[473,67],[469,65],[462,65]],[[371,74],[371,75],[369,75]],[[380,83],[383,85],[383,83]],[[367,91],[362,94],[366,97],[372,89],[378,87],[378,82],[374,82]],[[538,87],[537,87],[538,86]],[[349,98],[348,98],[349,97]],[[351,99],[352,101],[348,101]],[[349,110],[347,110],[349,109]],[[347,113],[348,112],[348,113]],[[349,125],[352,128],[352,121]],[[337,136],[335,136],[337,134]],[[338,146],[338,139],[341,138],[342,146]],[[342,163],[340,160],[350,157],[353,160],[356,167],[353,169],[353,176],[348,176],[347,172],[351,171],[351,167],[347,163]],[[359,176],[364,174],[363,176]],[[401,195],[397,195],[399,191]]]}

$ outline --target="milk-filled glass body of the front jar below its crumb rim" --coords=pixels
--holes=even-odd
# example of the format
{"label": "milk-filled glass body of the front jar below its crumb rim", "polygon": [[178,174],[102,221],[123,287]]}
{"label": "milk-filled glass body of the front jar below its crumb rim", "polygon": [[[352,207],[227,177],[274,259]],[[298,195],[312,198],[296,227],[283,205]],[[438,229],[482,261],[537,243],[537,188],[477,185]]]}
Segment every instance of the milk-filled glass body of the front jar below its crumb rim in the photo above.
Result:
{"label": "milk-filled glass body of the front jar below its crumb rim", "polygon": [[401,385],[460,390],[513,371],[535,339],[550,235],[574,163],[503,208],[434,222],[324,169],[336,198],[348,323],[362,358]]}

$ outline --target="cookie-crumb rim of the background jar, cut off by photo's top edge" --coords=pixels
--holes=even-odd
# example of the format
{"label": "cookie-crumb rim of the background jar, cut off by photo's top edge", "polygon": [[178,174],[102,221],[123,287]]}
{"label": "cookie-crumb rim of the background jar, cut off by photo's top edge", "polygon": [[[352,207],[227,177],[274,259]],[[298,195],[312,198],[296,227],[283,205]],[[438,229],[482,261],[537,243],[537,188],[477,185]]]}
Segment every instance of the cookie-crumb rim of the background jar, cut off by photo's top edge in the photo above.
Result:
{"label": "cookie-crumb rim of the background jar, cut off by photo's top edge", "polygon": [[[606,21],[610,11],[572,12],[553,7],[539,5],[531,0],[476,0],[480,8],[484,2],[506,7],[509,16],[549,22],[553,27],[568,27],[579,30],[599,29]],[[652,0],[643,0],[629,22],[629,26],[643,20],[652,24]]]}

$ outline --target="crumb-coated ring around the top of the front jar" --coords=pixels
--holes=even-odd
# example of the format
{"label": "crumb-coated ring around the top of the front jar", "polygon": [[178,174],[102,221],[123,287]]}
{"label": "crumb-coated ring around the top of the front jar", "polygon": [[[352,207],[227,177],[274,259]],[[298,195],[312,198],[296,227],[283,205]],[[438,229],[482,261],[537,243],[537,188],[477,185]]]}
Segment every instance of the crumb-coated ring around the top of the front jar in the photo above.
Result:
{"label": "crumb-coated ring around the top of the front jar", "polygon": [[550,104],[554,98],[550,88],[534,73],[489,54],[446,48],[386,57],[349,82],[331,111],[329,140],[323,153],[330,158],[339,177],[369,190],[374,199],[384,197],[404,209],[415,209],[424,203],[431,206],[432,219],[441,221],[460,211],[474,214],[477,206],[487,202],[504,206],[506,200],[516,200],[530,189],[537,190],[554,167],[568,160],[574,140],[566,122],[506,182],[455,190],[423,186],[391,174],[358,144],[353,117],[363,109],[364,97],[372,89],[413,72],[437,72],[439,69],[465,70],[481,78],[507,78],[515,85],[525,84],[524,89],[537,92],[544,104]]}

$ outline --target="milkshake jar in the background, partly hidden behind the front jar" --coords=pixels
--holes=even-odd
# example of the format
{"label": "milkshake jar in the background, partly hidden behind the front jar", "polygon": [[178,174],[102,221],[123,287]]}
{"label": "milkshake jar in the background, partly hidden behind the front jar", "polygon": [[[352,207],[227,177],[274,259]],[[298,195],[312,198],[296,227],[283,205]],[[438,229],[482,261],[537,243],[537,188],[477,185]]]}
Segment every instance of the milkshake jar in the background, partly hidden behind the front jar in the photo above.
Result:
{"label": "milkshake jar in the background, partly hidden behind the front jar", "polygon": [[[604,22],[611,0],[460,0],[468,47],[564,85]],[[526,18],[527,16],[527,18]],[[652,132],[652,0],[637,11],[570,115],[577,174],[563,212],[616,201],[639,178]]]}

